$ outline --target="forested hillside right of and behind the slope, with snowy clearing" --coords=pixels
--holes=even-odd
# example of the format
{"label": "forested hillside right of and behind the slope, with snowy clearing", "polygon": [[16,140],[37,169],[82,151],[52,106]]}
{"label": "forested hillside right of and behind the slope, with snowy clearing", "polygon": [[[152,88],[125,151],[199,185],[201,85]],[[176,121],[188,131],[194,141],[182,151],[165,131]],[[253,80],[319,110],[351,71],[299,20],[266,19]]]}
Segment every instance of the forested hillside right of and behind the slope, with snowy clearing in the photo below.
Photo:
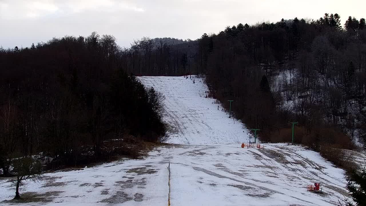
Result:
{"label": "forested hillside right of and behind the slope, with snowy clearing", "polygon": [[195,41],[142,38],[122,50],[122,67],[138,76],[206,76],[211,96],[262,140],[326,141],[353,148],[366,139],[365,19],[325,14],[228,26]]}

